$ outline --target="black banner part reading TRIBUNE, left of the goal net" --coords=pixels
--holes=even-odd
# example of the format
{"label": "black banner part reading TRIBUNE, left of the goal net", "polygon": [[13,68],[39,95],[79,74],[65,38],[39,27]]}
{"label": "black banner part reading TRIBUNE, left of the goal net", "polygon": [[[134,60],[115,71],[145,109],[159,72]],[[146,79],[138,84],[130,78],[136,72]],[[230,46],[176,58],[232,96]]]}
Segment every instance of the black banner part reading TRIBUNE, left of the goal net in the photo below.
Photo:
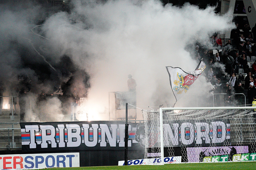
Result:
{"label": "black banner part reading TRIBUNE, left of the goal net", "polygon": [[[22,151],[123,150],[124,121],[20,122]],[[144,125],[129,123],[128,148],[143,149]]]}

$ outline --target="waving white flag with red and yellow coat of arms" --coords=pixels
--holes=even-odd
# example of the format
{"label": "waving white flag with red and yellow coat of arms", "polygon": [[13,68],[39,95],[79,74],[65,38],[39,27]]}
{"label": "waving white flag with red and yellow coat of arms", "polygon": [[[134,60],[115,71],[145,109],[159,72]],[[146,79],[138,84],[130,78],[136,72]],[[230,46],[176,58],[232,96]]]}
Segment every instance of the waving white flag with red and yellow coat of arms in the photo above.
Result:
{"label": "waving white flag with red and yellow coat of arms", "polygon": [[[189,90],[190,86],[206,68],[204,61],[200,61],[195,71],[185,72],[180,67],[166,66],[176,102]],[[173,107],[175,106],[174,103]]]}

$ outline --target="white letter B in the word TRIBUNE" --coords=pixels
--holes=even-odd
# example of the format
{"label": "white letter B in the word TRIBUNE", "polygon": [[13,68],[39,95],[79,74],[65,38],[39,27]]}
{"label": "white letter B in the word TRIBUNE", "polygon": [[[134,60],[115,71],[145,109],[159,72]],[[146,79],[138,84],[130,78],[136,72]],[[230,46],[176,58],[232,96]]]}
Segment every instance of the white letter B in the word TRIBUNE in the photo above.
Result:
{"label": "white letter B in the word TRIBUNE", "polygon": [[[81,129],[78,124],[66,124],[67,127],[67,147],[77,147],[81,144]],[[76,139],[76,141],[73,139]]]}

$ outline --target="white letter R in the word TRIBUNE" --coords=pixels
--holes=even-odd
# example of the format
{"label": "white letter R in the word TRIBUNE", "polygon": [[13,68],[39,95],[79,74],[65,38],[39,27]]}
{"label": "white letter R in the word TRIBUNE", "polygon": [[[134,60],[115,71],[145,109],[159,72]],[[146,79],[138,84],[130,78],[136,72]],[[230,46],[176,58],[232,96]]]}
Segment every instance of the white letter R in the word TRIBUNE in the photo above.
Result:
{"label": "white letter R in the word TRIBUNE", "polygon": [[[55,141],[55,128],[52,125],[40,125],[40,129],[42,132],[42,143],[41,148],[47,148],[48,144],[47,141],[51,141],[52,148],[57,147],[57,143]],[[47,134],[50,131],[51,134]]]}

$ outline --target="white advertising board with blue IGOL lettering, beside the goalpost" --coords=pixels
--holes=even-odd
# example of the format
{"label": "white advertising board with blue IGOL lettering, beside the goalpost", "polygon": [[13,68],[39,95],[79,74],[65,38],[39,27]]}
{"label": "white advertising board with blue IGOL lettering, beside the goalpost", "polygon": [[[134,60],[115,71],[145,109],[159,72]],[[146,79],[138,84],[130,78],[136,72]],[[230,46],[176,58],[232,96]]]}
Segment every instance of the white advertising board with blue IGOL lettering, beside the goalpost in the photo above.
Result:
{"label": "white advertising board with blue IGOL lettering, beside the goalpost", "polygon": [[[146,165],[148,162],[155,163],[161,162],[161,158],[151,158],[151,159],[142,159],[142,160],[128,160],[128,165]],[[181,163],[181,156],[179,157],[164,157],[164,164],[167,163]],[[124,165],[124,161],[118,161],[118,166]]]}

